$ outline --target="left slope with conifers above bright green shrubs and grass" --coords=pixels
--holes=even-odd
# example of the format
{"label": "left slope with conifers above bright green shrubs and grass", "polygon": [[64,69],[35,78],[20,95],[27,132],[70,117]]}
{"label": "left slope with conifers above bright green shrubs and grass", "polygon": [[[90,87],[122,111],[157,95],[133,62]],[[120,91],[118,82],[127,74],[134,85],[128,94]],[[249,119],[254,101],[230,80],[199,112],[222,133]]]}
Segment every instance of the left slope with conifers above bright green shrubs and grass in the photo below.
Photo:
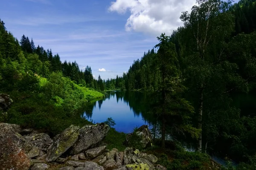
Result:
{"label": "left slope with conifers above bright green shrubs and grass", "polygon": [[52,135],[70,124],[88,124],[79,111],[87,100],[104,97],[91,90],[99,89],[98,84],[90,67],[83,72],[76,62],[61,63],[58,54],[39,45],[35,48],[25,35],[19,42],[0,20],[0,93],[14,101],[8,111],[0,110],[0,122]]}

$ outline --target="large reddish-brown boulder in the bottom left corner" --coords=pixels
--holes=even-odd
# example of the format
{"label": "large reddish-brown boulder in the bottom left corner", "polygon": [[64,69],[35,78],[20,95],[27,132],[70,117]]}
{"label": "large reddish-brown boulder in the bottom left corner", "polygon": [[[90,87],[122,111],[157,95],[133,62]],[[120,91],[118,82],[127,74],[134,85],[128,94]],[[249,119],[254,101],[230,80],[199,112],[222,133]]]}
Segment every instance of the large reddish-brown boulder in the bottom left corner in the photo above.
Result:
{"label": "large reddish-brown boulder in the bottom left corner", "polygon": [[32,143],[19,133],[11,124],[0,123],[0,167],[1,170],[29,169],[32,162],[28,153]]}

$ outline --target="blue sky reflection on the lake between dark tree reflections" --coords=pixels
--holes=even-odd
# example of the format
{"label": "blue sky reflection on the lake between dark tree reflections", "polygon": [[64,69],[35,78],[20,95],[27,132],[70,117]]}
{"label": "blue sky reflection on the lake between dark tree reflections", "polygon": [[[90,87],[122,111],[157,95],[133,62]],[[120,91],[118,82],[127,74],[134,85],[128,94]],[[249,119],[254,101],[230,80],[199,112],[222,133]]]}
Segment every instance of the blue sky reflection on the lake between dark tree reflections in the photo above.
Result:
{"label": "blue sky reflection on the lake between dark tree reflections", "polygon": [[131,133],[134,127],[148,125],[143,120],[141,113],[139,115],[134,113],[122,98],[116,99],[116,94],[114,96],[111,95],[110,99],[97,101],[93,108],[92,116],[90,117],[84,113],[84,117],[89,121],[92,119],[95,123],[104,122],[111,117],[116,122],[114,128],[124,133]]}

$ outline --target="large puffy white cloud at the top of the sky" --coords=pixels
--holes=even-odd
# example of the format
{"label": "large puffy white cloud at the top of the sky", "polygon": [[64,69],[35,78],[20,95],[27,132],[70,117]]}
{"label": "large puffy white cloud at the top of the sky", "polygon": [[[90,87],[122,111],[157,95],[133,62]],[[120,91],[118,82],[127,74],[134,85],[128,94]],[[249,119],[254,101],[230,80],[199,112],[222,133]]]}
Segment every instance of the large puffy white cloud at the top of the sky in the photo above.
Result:
{"label": "large puffy white cloud at the top of the sky", "polygon": [[189,11],[195,0],[115,0],[109,11],[124,14],[131,13],[126,31],[137,31],[159,36],[161,33],[171,35],[172,31],[182,26],[182,11]]}

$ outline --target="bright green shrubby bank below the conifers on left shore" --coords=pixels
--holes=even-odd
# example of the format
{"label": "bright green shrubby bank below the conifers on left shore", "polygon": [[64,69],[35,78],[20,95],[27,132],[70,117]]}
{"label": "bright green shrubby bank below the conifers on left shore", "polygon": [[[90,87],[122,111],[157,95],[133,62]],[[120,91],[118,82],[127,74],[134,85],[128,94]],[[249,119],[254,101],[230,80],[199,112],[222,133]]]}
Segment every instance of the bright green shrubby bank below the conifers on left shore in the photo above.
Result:
{"label": "bright green shrubby bank below the conifers on left shore", "polygon": [[40,129],[54,136],[70,125],[91,124],[81,119],[84,106],[92,99],[104,97],[60,73],[52,73],[48,79],[31,75],[27,80],[29,90],[7,92],[13,104],[5,114],[0,114],[0,122]]}

